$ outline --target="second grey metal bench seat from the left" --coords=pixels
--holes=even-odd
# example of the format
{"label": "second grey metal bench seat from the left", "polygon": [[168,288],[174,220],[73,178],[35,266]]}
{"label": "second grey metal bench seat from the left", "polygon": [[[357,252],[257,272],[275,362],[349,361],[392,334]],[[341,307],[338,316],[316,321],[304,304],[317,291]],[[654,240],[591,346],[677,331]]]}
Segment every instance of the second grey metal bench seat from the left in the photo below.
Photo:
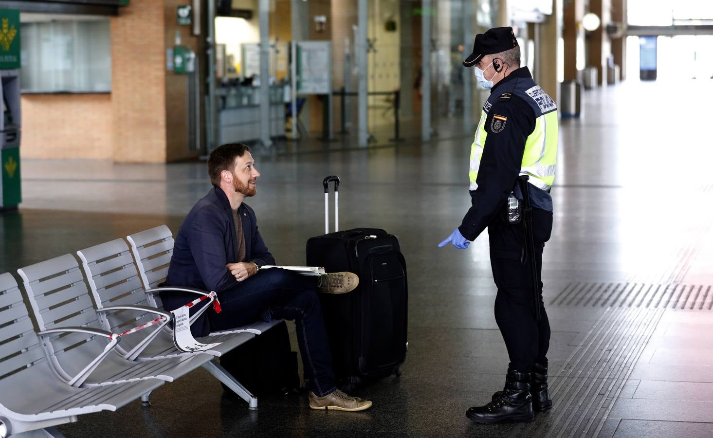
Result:
{"label": "second grey metal bench seat from the left", "polygon": [[[98,313],[110,310],[94,309],[72,255],[61,255],[17,272],[24,280],[48,360],[66,384],[96,387],[147,379],[173,382],[212,359],[210,355],[196,354],[138,362],[118,355],[116,347],[123,337],[101,327]],[[104,281],[112,280],[107,277]],[[163,312],[162,316],[166,315]]]}

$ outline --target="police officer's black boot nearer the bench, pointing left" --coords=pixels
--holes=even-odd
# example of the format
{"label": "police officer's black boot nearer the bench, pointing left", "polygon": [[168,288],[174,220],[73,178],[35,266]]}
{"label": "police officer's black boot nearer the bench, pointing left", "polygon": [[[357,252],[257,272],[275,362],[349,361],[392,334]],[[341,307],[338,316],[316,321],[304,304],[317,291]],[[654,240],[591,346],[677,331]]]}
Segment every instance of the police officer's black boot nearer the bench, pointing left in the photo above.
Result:
{"label": "police officer's black boot nearer the bench, pointing left", "polygon": [[466,417],[476,423],[531,422],[535,418],[529,372],[508,370],[500,397],[485,406],[471,407]]}

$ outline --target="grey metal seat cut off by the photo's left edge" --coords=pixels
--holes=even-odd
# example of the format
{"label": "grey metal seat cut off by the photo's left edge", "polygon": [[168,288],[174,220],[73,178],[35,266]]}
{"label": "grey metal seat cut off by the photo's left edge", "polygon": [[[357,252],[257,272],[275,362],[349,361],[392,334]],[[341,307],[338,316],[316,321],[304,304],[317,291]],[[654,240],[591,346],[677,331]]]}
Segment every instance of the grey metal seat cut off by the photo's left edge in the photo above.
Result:
{"label": "grey metal seat cut off by the photo's left edge", "polygon": [[[93,336],[86,330],[83,337]],[[76,422],[81,414],[116,411],[163,383],[66,384],[43,352],[17,282],[9,273],[0,275],[0,437],[30,431],[61,437],[54,426]]]}

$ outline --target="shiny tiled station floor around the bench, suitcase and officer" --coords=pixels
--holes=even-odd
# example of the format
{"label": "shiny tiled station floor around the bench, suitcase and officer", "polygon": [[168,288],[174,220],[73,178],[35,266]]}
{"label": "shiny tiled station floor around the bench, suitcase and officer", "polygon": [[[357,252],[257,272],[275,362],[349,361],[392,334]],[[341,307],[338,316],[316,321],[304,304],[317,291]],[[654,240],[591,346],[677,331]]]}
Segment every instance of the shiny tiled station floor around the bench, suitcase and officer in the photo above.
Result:
{"label": "shiny tiled station floor around the bench, suitcase and officer", "polygon": [[[469,203],[471,140],[452,136],[257,154],[250,205],[279,263],[304,263],[304,242],[322,233],[324,175],[342,177],[341,228],[399,236],[409,357],[400,379],[359,391],[373,409],[310,412],[295,396],[264,397],[249,412],[198,370],[160,387],[150,408],[134,402],[58,429],[107,438],[712,436],[713,148],[710,111],[696,97],[711,82],[588,91],[583,117],[562,121],[543,263],[555,407],[535,422],[482,426],[463,415],[502,386],[507,355],[486,236],[468,250],[436,248]],[[690,96],[685,114],[670,108],[674,93]],[[0,272],[161,223],[177,230],[210,188],[203,163],[24,161],[22,171],[24,203],[0,215]]]}

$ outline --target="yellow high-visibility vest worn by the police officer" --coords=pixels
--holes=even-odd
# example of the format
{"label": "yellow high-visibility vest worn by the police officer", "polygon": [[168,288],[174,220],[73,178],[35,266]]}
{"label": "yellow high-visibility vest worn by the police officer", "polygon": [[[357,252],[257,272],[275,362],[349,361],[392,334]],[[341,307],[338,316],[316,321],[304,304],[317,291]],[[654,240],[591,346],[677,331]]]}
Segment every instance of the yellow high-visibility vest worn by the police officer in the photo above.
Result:
{"label": "yellow high-visibility vest worn by the police officer", "polygon": [[[501,89],[502,88],[502,89]],[[518,78],[498,87],[498,93],[491,94],[483,106],[481,121],[476,137],[471,145],[470,190],[476,190],[478,168],[481,165],[483,147],[486,144],[486,117],[491,106],[503,93],[511,93],[530,104],[535,111],[535,130],[525,141],[525,153],[520,165],[520,175],[530,175],[529,182],[542,190],[550,191],[555,181],[557,143],[559,137],[557,106],[555,101],[538,86],[532,78]]]}

